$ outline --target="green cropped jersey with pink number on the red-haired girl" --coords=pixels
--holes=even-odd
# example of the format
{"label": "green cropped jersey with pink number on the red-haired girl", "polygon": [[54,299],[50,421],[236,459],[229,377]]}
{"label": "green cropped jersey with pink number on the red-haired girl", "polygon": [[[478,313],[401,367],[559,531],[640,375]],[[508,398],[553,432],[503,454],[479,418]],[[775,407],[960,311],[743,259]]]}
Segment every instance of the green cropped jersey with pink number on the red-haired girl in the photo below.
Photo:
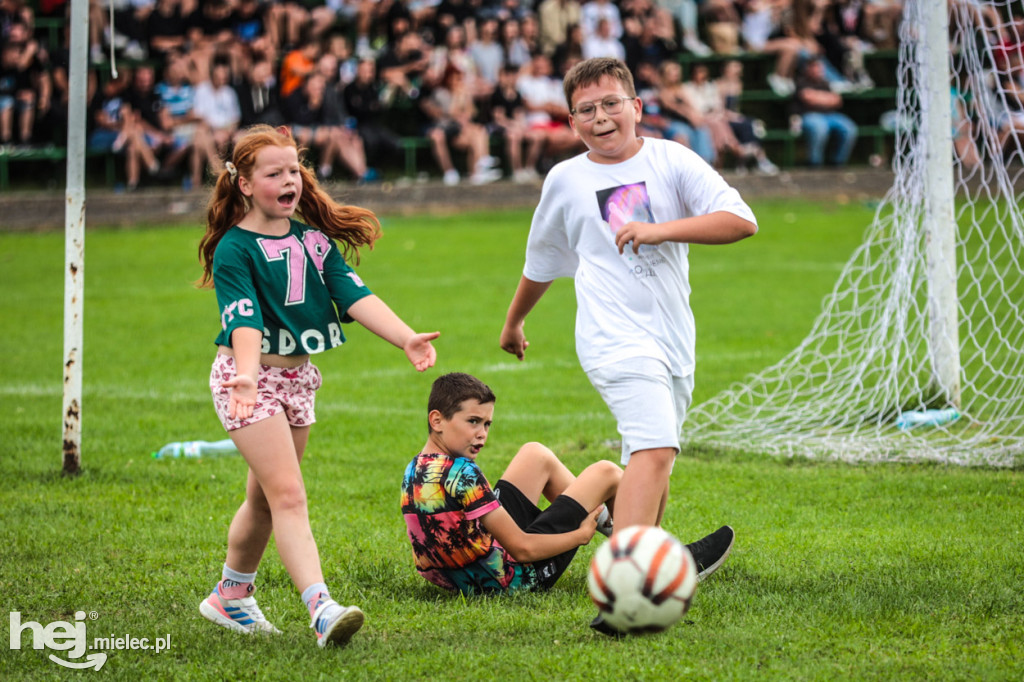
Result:
{"label": "green cropped jersey with pink number on the red-haired girl", "polygon": [[228,229],[213,254],[213,286],[220,308],[219,345],[231,332],[263,332],[260,352],[318,353],[345,342],[341,323],[349,306],[371,294],[337,245],[318,229],[292,220],[284,237]]}

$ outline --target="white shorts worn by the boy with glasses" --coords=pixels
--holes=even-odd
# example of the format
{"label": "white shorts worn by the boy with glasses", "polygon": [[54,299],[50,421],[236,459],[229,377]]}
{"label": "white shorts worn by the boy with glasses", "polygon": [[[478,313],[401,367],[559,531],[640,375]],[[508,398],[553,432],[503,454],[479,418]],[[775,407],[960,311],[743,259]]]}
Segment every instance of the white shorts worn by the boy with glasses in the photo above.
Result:
{"label": "white shorts worn by the boy with glasses", "polygon": [[679,431],[693,400],[692,374],[674,377],[658,359],[631,357],[591,370],[587,377],[618,425],[624,466],[641,450],[679,452]]}

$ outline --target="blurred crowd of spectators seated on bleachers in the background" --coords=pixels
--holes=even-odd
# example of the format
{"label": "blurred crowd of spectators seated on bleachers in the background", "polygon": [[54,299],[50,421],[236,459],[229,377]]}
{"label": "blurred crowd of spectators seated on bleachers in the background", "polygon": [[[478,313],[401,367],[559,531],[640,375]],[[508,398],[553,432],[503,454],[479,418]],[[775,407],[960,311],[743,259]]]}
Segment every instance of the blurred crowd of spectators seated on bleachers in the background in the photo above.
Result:
{"label": "blurred crowd of spectators seated on bleachers in the background", "polygon": [[[0,0],[0,144],[66,129],[70,32],[48,44],[35,26],[69,6]],[[774,173],[738,105],[742,61],[680,67],[758,52],[774,66],[748,86],[791,100],[809,163],[843,164],[856,139],[843,95],[872,87],[863,55],[896,45],[900,16],[899,0],[92,0],[88,143],[124,156],[129,188],[199,186],[253,123],[289,126],[324,178],[374,181],[414,137],[447,184],[528,182],[582,150],[562,75],[614,56],[644,135]]]}

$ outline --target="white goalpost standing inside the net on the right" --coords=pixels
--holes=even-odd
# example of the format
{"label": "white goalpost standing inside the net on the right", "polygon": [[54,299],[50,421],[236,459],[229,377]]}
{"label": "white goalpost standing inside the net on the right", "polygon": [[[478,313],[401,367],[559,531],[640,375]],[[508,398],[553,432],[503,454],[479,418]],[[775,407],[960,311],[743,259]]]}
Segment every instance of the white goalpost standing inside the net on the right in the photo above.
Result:
{"label": "white goalpost standing inside the net on the right", "polygon": [[961,406],[956,223],[950,114],[949,10],[946,0],[925,3],[922,23],[921,138],[925,154],[925,239],[932,379],[942,397]]}

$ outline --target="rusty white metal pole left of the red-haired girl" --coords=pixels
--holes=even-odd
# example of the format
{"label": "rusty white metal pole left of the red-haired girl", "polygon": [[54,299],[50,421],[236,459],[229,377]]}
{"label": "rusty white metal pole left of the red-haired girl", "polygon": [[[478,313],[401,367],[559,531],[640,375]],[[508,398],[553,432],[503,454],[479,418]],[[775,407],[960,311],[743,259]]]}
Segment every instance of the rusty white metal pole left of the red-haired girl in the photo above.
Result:
{"label": "rusty white metal pole left of the red-haired girl", "polygon": [[85,282],[85,116],[89,0],[71,0],[68,181],[65,190],[63,473],[82,467],[82,315]]}

